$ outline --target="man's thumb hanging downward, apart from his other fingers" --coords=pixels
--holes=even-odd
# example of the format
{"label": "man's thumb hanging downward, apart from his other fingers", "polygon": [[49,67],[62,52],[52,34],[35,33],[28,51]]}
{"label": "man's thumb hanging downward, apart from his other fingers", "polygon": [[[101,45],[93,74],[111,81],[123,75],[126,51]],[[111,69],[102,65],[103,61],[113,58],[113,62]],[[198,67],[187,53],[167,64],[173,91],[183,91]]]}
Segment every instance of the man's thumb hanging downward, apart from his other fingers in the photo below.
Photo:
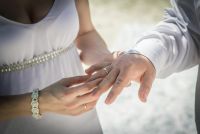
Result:
{"label": "man's thumb hanging downward, apart from his other fingers", "polygon": [[152,77],[151,74],[144,73],[143,78],[140,83],[139,92],[138,92],[138,96],[142,102],[147,101],[147,97],[151,90],[153,81],[154,81],[154,77]]}

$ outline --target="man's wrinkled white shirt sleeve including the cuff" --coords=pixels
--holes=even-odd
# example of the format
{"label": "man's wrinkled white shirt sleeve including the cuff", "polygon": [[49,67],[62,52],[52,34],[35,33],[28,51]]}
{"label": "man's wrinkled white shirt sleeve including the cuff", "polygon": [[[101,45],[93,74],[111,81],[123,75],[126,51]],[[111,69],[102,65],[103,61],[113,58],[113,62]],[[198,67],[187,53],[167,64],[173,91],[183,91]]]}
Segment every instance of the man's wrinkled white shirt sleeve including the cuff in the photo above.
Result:
{"label": "man's wrinkled white shirt sleeve including the cuff", "polygon": [[188,23],[180,19],[173,9],[166,10],[163,21],[142,35],[132,50],[147,57],[160,78],[199,63],[198,47]]}

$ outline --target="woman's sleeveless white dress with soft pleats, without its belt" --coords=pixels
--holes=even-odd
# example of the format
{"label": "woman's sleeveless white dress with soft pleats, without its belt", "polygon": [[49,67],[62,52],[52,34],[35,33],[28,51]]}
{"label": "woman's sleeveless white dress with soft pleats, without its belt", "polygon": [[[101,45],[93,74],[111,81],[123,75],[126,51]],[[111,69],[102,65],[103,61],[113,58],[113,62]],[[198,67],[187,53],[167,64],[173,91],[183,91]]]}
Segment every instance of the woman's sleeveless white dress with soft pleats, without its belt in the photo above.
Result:
{"label": "woman's sleeveless white dress with soft pleats, without its belt", "polygon": [[[55,0],[48,15],[35,24],[0,16],[0,96],[43,89],[64,78],[84,74],[74,40],[79,20],[74,0]],[[66,49],[32,66],[2,69]],[[23,65],[23,64],[22,64]],[[45,114],[40,120],[18,117],[0,122],[0,134],[102,134],[96,110],[72,117]]]}

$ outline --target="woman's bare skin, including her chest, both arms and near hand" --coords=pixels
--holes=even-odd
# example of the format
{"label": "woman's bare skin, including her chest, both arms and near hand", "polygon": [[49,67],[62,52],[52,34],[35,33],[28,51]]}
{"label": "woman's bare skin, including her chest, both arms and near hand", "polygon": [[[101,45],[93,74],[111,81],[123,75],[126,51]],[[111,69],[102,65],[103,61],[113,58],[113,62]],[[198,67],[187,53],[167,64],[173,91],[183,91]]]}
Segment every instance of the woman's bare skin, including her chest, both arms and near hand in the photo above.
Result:
{"label": "woman's bare skin, including her chest, both arms and near hand", "polygon": [[[53,0],[1,0],[0,15],[21,23],[37,23],[45,17],[52,4]],[[80,21],[76,42],[82,62],[91,65],[103,60],[110,61],[112,55],[91,22],[88,1],[76,0],[76,7]],[[94,97],[91,91],[97,87],[101,79],[85,82],[87,79],[88,76],[66,78],[41,90],[41,113],[79,115],[93,109],[98,97]],[[74,86],[79,83],[82,84]],[[0,120],[31,115],[30,96],[30,93],[1,96]],[[87,104],[87,109],[84,109],[84,104]]]}

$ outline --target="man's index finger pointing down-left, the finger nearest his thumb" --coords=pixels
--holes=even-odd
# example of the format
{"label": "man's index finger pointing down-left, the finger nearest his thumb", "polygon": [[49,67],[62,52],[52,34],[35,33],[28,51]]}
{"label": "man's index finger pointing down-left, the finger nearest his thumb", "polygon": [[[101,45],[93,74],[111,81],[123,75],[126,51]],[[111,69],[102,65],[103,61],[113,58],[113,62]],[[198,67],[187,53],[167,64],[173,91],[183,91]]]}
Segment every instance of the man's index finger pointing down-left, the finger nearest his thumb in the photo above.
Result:
{"label": "man's index finger pointing down-left, the finger nearest his thumb", "polygon": [[111,104],[115,101],[117,96],[122,92],[122,90],[127,86],[129,83],[128,78],[128,71],[120,71],[120,74],[118,75],[110,93],[108,94],[106,98],[106,104]]}

